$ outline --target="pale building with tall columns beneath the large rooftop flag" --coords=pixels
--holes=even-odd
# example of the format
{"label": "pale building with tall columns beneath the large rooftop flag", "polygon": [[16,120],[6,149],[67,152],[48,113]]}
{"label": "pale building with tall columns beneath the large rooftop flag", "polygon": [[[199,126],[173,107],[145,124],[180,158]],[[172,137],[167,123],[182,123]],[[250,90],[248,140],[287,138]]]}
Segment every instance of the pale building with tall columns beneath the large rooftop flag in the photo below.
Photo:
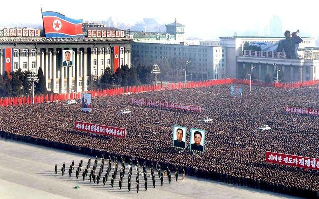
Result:
{"label": "pale building with tall columns beneath the large rooftop flag", "polygon": [[[12,70],[34,71],[39,67],[44,72],[46,88],[55,93],[88,90],[107,67],[114,73],[114,57],[119,66],[130,66],[131,42],[129,37],[104,38],[45,38],[45,37],[0,37],[0,73],[5,72],[4,50],[12,48]],[[119,46],[119,55],[113,49]],[[62,50],[73,50],[72,67],[63,67]]]}

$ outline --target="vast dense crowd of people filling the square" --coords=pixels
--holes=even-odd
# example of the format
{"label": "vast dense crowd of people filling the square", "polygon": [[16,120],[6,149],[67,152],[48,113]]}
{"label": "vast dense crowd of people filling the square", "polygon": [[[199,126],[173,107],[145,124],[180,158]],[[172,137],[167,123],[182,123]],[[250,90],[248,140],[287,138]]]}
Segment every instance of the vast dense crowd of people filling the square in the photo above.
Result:
{"label": "vast dense crowd of people filling the square", "polygon": [[[201,106],[201,113],[137,106],[131,98]],[[89,155],[123,156],[126,161],[184,169],[186,175],[242,186],[316,197],[319,172],[266,163],[266,151],[319,157],[319,117],[286,113],[284,106],[319,109],[314,87],[282,89],[243,86],[242,97],[230,85],[97,97],[92,111],[65,102],[3,107],[2,137]],[[129,108],[132,113],[119,115]],[[201,119],[210,117],[212,122]],[[75,121],[125,128],[126,139],[75,131]],[[270,131],[259,131],[267,124]],[[173,125],[187,127],[186,150],[172,146]],[[188,150],[190,128],[204,129],[205,152]]]}

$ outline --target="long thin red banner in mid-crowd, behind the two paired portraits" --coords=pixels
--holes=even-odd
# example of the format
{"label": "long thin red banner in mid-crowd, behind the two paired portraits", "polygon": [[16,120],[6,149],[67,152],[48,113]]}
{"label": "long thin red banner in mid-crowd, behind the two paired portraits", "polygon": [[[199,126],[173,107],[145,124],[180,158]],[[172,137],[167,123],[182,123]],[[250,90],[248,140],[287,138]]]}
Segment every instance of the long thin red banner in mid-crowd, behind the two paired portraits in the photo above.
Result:
{"label": "long thin red banner in mid-crowd, behind the two paired portraits", "polygon": [[185,104],[175,104],[169,102],[159,102],[152,100],[144,100],[144,99],[131,99],[131,103],[135,105],[143,105],[143,106],[153,106],[165,109],[174,109],[174,110],[182,110],[182,111],[192,111],[200,113],[201,107],[193,106],[193,105],[185,105]]}

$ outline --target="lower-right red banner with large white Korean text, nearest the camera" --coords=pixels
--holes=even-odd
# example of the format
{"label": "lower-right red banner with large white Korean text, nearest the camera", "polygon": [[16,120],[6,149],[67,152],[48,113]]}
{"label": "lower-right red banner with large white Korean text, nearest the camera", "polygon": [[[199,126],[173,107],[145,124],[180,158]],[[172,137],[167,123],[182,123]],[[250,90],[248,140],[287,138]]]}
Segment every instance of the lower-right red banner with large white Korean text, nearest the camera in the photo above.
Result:
{"label": "lower-right red banner with large white Korean text, nearest the camera", "polygon": [[319,159],[280,154],[270,151],[266,152],[266,162],[319,170]]}

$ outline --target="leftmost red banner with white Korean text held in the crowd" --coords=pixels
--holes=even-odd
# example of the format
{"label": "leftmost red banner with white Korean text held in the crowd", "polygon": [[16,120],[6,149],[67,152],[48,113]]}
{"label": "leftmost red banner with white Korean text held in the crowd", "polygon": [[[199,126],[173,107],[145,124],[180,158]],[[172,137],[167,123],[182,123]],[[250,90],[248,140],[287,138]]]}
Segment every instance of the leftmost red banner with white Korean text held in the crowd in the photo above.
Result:
{"label": "leftmost red banner with white Korean text held in the crowd", "polygon": [[75,122],[75,130],[95,133],[99,135],[108,135],[108,136],[118,137],[122,139],[125,139],[125,136],[126,136],[126,129],[124,128],[104,126],[104,125],[86,123],[81,121]]}

